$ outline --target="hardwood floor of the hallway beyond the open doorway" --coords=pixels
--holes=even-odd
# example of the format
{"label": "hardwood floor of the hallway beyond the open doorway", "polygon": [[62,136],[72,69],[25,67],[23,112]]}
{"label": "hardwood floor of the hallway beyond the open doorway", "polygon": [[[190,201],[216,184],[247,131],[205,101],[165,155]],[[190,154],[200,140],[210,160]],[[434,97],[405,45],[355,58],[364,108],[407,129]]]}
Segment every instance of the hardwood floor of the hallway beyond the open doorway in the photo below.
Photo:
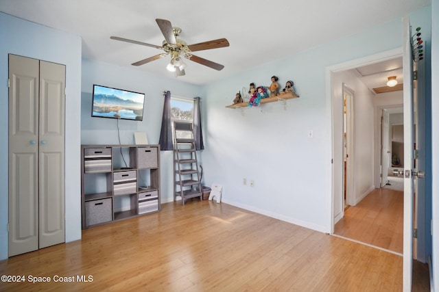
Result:
{"label": "hardwood floor of the hallway beyond the open doorway", "polygon": [[356,206],[344,211],[334,233],[402,254],[403,199],[402,191],[374,189]]}

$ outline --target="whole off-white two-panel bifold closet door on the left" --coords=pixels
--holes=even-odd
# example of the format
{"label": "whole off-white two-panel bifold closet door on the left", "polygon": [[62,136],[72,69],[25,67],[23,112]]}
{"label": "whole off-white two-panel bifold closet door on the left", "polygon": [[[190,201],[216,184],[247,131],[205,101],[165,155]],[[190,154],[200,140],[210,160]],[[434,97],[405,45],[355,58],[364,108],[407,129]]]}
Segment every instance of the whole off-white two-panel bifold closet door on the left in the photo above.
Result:
{"label": "whole off-white two-panel bifold closet door on the left", "polygon": [[65,241],[65,66],[9,55],[9,256]]}

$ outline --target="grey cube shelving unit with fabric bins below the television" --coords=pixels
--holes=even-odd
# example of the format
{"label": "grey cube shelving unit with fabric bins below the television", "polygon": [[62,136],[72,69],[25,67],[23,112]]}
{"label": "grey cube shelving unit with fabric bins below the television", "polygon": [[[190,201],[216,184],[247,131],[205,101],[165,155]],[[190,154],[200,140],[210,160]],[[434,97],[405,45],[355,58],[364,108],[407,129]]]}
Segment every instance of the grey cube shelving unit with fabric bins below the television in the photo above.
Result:
{"label": "grey cube shelving unit with fabric bins below the television", "polygon": [[81,146],[82,228],[160,210],[159,145]]}

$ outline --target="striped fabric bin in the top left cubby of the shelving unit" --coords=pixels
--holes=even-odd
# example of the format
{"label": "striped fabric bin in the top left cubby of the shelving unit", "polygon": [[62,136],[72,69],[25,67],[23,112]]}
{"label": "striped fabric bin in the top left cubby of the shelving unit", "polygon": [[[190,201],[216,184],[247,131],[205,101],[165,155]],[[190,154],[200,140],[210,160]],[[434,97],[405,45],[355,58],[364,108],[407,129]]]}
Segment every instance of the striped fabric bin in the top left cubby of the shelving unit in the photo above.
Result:
{"label": "striped fabric bin in the top left cubby of the shelving unit", "polygon": [[84,172],[110,172],[111,148],[85,148]]}

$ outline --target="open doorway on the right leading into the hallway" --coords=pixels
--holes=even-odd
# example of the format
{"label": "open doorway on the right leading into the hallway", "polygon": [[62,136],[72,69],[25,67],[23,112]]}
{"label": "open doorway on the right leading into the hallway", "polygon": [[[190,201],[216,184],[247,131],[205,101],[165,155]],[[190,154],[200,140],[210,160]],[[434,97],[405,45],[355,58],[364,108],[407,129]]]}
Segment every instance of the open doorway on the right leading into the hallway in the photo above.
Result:
{"label": "open doorway on the right leading into the hallway", "polygon": [[[348,228],[359,228],[357,235],[364,235],[367,228],[368,236],[351,239],[375,245],[382,249],[392,250],[392,252],[398,254],[402,254],[403,252],[403,224],[401,221],[403,217],[403,204],[399,204],[398,201],[400,200],[400,202],[402,202],[403,195],[401,194],[403,193],[387,189],[380,191],[379,189],[381,183],[379,174],[382,165],[381,135],[383,134],[381,131],[381,111],[378,111],[378,109],[381,110],[381,108],[385,106],[401,106],[403,102],[402,86],[399,86],[397,89],[392,88],[389,90],[385,85],[387,75],[394,73],[394,75],[402,77],[401,73],[396,73],[397,71],[402,71],[401,54],[401,51],[388,52],[388,55],[383,53],[381,55],[372,56],[370,59],[360,60],[357,64],[348,64],[344,68],[341,67],[340,70],[333,70],[331,72],[333,96],[337,94],[342,96],[342,101],[337,99],[333,99],[332,101],[334,178],[333,234],[337,235],[337,233],[339,233],[340,225],[348,225],[346,224],[346,215],[349,219],[352,219],[352,216],[354,216],[355,220],[363,216],[366,218],[365,223],[361,223],[361,220],[355,221],[357,224],[354,226],[351,224]],[[383,85],[370,85],[372,82],[371,79],[374,78],[381,79]],[[337,92],[336,87],[342,87],[342,90]],[[385,90],[385,92],[381,94],[380,90]],[[354,92],[355,98],[351,101],[350,98],[354,96]],[[385,101],[385,99],[389,101]],[[351,101],[351,107],[349,107],[349,101]],[[339,102],[342,103],[342,108],[336,106]],[[355,105],[355,103],[358,104]],[[355,112],[355,109],[357,109],[358,112]],[[343,117],[339,121],[335,119],[337,112],[340,112]],[[349,114],[353,114],[354,112],[355,119],[349,118]],[[389,135],[390,134],[391,131],[389,130]],[[352,139],[351,142],[349,141],[350,137]],[[340,150],[337,150],[337,148],[340,148]],[[391,153],[390,148],[389,152]],[[353,163],[354,159],[355,163]],[[351,170],[349,170],[349,165],[351,165]],[[377,174],[378,179],[375,178]],[[342,196],[338,197],[337,191],[341,191]],[[364,205],[361,206],[361,204]],[[391,211],[389,206],[399,206],[399,209],[397,209],[397,211]],[[355,211],[358,209],[361,209],[361,212]],[[394,214],[397,213],[398,215],[394,217],[393,222],[401,222],[401,226],[399,226],[401,230],[394,228],[394,233],[392,233],[392,228],[389,228],[385,232],[383,231],[385,228],[382,227],[381,231],[372,230],[374,224],[370,224],[370,220],[369,222],[367,220],[367,217],[369,216],[370,218],[372,215],[367,215],[365,210],[370,210],[370,214],[381,214],[377,215],[377,217],[387,216],[385,213],[388,211]],[[340,224],[338,224],[336,230],[335,224],[338,222],[340,222]],[[376,226],[380,228],[382,224],[377,223]],[[343,234],[346,235],[346,233]],[[372,240],[374,237],[376,239],[383,236],[387,238],[385,242],[379,243],[377,240]],[[366,241],[368,238],[371,239],[369,242]]]}

